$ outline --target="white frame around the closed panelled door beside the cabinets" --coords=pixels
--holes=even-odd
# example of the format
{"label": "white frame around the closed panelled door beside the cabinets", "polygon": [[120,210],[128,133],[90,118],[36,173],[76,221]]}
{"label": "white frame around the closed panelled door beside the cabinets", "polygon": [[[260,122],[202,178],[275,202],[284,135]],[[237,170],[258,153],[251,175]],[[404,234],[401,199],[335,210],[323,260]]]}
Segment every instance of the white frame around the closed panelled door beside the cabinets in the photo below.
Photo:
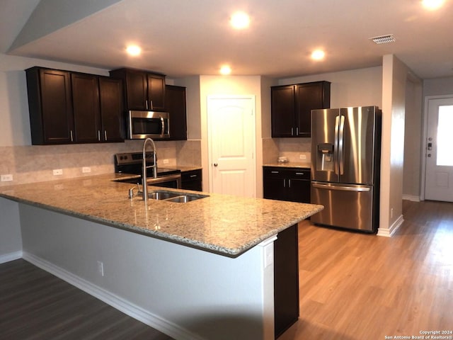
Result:
{"label": "white frame around the closed panelled door beside the cabinets", "polygon": [[208,157],[208,178],[209,178],[209,190],[212,192],[213,186],[213,171],[212,171],[212,131],[211,131],[211,118],[210,118],[210,100],[211,99],[251,99],[253,101],[253,117],[254,117],[254,124],[253,129],[250,131],[252,136],[252,148],[253,148],[253,183],[254,183],[254,190],[253,196],[256,197],[256,96],[254,94],[243,95],[243,94],[228,94],[228,95],[219,95],[219,94],[210,94],[206,98],[206,117],[207,117],[207,157]]}

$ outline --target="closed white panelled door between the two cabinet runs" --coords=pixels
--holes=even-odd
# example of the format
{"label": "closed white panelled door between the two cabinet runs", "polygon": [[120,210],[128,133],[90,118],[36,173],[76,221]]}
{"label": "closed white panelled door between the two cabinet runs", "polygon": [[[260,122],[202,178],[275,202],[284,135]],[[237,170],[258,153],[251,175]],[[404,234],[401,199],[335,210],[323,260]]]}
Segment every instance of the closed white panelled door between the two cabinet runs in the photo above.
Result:
{"label": "closed white panelled door between the two cabinet runs", "polygon": [[255,96],[208,96],[210,191],[256,197]]}

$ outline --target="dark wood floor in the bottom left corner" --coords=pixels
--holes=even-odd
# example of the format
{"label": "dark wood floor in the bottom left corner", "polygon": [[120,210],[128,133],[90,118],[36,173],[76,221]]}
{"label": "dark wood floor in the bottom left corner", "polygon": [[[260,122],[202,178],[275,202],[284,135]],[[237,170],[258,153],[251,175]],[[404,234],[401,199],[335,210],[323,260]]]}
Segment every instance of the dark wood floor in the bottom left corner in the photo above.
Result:
{"label": "dark wood floor in the bottom left corner", "polygon": [[172,338],[20,259],[0,265],[0,339]]}

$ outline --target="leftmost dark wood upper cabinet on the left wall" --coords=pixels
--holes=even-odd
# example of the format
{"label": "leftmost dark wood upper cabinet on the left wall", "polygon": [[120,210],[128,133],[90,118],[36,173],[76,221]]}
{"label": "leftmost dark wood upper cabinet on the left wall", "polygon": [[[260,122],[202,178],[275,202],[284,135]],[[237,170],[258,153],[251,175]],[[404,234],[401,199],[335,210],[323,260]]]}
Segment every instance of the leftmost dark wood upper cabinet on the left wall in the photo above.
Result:
{"label": "leftmost dark wood upper cabinet on the left wall", "polygon": [[74,118],[69,72],[32,67],[25,73],[32,144],[71,143]]}

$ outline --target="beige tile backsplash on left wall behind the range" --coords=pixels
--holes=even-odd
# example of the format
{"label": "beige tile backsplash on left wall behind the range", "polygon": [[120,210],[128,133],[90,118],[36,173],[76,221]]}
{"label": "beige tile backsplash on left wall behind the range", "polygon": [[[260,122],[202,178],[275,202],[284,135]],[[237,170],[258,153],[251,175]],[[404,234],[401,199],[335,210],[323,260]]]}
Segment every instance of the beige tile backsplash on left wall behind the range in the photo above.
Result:
{"label": "beige tile backsplash on left wall behind the range", "polygon": [[[113,155],[120,152],[141,152],[142,140],[124,143],[79,145],[27,145],[0,147],[0,175],[11,174],[13,181],[0,181],[0,186],[33,183],[56,179],[54,169],[62,169],[57,178],[72,178],[115,171]],[[158,164],[166,166],[200,166],[199,140],[156,142]],[[168,161],[168,162],[167,162]],[[84,174],[82,168],[91,172]]]}

